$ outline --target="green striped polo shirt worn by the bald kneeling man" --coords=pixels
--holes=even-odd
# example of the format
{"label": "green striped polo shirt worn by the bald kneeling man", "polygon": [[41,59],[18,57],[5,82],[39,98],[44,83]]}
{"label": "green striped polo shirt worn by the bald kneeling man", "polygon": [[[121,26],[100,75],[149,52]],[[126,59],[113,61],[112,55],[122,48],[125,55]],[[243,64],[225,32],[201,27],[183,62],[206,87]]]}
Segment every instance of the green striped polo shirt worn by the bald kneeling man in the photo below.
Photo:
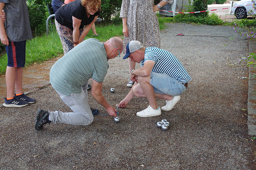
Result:
{"label": "green striped polo shirt worn by the bald kneeling man", "polygon": [[102,83],[108,67],[104,44],[97,39],[87,39],[52,66],[50,83],[55,90],[67,96],[81,93],[81,86],[90,78]]}

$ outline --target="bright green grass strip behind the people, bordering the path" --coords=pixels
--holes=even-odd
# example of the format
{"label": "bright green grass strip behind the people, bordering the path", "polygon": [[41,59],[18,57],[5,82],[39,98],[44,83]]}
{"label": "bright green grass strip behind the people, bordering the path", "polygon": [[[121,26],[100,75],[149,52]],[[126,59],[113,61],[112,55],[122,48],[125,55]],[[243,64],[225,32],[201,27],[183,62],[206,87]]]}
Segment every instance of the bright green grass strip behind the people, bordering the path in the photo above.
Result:
{"label": "bright green grass strip behind the people, bordering the path", "polygon": [[[94,37],[90,30],[85,39],[96,38],[100,41],[107,41],[114,36],[123,36],[123,27],[120,25],[96,26],[97,34],[100,36]],[[49,36],[37,36],[26,42],[26,64],[29,67],[34,63],[42,63],[59,55],[63,55],[63,49],[60,37],[55,26],[49,26]],[[0,57],[0,75],[4,75],[7,66],[7,54]]]}

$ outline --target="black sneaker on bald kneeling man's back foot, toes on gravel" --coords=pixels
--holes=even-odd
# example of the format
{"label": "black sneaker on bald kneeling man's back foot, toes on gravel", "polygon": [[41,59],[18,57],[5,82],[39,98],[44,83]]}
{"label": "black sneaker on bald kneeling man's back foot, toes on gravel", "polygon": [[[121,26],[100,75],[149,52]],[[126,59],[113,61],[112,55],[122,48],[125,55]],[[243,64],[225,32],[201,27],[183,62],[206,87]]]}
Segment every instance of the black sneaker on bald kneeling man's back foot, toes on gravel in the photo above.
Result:
{"label": "black sneaker on bald kneeling man's back foot, toes on gravel", "polygon": [[50,124],[52,121],[49,120],[49,111],[38,109],[37,117],[35,120],[35,129],[42,130],[44,128],[44,124]]}

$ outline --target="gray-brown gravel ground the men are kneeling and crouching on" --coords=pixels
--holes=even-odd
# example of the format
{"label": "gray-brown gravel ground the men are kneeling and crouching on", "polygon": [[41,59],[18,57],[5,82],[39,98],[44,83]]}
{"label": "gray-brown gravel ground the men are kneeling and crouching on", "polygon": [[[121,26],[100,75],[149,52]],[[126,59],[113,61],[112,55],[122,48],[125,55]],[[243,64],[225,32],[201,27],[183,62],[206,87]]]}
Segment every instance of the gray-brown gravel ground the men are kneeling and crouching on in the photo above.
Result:
{"label": "gray-brown gravel ground the men are kneeling and crouching on", "polygon": [[[0,169],[140,169],[253,170],[256,140],[247,132],[248,81],[239,80],[247,68],[227,66],[248,53],[248,40],[232,27],[166,24],[162,48],[172,52],[192,80],[181,100],[161,116],[142,118],[136,112],[147,99],[134,98],[118,109],[121,122],[95,116],[89,126],[45,125],[34,129],[36,110],[70,111],[51,85],[29,94],[37,101],[23,108],[0,108]],[[176,36],[187,35],[213,36]],[[233,37],[233,40],[230,39]],[[136,67],[139,67],[137,64]],[[129,92],[128,62],[109,60],[103,95],[116,106]],[[115,88],[115,93],[109,89]],[[90,93],[90,90],[88,91]],[[91,107],[107,113],[89,94]],[[165,101],[157,100],[159,106]],[[170,129],[156,122],[166,118]]]}

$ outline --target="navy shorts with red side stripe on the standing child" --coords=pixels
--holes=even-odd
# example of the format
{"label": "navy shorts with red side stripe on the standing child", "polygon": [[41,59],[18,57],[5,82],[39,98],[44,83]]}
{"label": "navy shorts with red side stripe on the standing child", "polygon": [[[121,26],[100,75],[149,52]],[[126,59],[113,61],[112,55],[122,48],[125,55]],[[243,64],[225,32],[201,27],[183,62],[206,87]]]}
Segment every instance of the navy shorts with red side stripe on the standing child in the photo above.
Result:
{"label": "navy shorts with red side stripe on the standing child", "polygon": [[25,67],[26,60],[26,40],[25,41],[9,41],[9,45],[5,45],[8,56],[7,66],[9,67]]}

